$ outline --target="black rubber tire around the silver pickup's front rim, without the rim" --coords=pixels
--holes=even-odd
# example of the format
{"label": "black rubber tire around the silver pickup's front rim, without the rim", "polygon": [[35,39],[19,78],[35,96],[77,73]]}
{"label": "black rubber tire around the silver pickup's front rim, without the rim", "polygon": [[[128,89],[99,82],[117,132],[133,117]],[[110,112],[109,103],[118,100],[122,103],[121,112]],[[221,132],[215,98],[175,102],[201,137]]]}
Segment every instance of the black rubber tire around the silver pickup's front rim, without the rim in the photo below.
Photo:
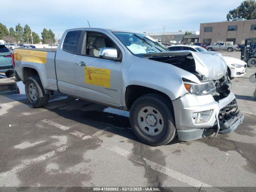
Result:
{"label": "black rubber tire around the silver pickup's front rim, without the rim", "polygon": [[[156,108],[163,118],[163,129],[156,136],[150,136],[142,131],[138,122],[139,111],[146,107]],[[136,136],[144,143],[152,146],[160,146],[169,143],[176,136],[176,127],[173,116],[172,103],[162,94],[147,94],[139,97],[130,109],[130,123]],[[161,121],[162,122],[162,121]]]}

